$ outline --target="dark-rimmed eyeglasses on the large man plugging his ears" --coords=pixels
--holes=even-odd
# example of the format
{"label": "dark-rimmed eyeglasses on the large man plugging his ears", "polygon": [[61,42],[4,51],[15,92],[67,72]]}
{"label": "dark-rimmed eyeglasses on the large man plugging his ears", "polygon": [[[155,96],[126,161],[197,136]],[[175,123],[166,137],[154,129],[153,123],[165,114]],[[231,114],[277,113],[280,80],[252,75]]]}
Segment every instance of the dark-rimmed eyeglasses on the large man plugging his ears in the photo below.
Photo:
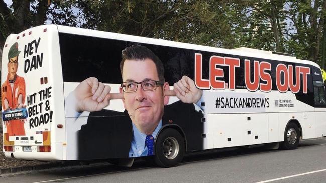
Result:
{"label": "dark-rimmed eyeglasses on the large man plugging his ears", "polygon": [[138,84],[140,84],[144,91],[154,91],[157,86],[162,86],[160,81],[146,80],[142,82],[126,81],[121,84],[122,90],[126,93],[132,93],[137,91]]}

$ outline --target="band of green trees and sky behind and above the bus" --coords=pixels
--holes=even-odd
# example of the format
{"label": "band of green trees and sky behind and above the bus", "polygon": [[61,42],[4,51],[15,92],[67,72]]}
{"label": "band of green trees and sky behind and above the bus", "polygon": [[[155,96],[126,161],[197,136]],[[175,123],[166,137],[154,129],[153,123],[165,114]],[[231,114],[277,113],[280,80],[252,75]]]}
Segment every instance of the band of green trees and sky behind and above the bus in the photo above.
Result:
{"label": "band of green trees and sky behind and above the bus", "polygon": [[0,49],[10,33],[52,23],[286,52],[324,68],[325,9],[326,0],[0,0]]}

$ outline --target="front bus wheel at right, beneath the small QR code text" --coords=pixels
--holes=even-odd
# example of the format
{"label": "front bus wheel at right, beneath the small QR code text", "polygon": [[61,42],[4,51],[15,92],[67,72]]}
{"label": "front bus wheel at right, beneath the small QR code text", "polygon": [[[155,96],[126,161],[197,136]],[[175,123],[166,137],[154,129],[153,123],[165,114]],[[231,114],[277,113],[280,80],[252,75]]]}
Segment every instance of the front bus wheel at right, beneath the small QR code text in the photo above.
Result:
{"label": "front bus wheel at right, beneath the small QR code text", "polygon": [[298,147],[300,141],[299,127],[295,123],[289,123],[284,133],[284,141],[280,143],[280,148],[292,150]]}

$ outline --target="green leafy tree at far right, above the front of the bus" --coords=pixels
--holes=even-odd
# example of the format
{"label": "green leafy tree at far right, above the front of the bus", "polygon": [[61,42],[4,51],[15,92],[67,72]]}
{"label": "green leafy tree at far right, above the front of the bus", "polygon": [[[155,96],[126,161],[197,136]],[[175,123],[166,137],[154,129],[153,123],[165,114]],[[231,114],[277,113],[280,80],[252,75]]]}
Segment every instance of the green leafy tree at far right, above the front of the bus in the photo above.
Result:
{"label": "green leafy tree at far right, above the front of the bus", "polygon": [[[289,51],[297,57],[312,60],[320,64],[320,49],[326,14],[326,1],[299,0],[287,1],[287,16],[290,26],[288,31]],[[291,30],[291,29],[290,29]]]}

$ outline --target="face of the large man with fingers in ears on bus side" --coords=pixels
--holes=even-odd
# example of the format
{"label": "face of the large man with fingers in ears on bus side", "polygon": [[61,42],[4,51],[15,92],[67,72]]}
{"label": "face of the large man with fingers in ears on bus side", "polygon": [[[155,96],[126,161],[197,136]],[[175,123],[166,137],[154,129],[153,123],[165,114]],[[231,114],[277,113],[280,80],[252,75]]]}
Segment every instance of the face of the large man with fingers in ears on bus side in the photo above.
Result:
{"label": "face of the large man with fingers in ears on bus side", "polygon": [[[122,74],[123,82],[142,82],[146,80],[159,81],[156,66],[151,59],[125,60]],[[164,89],[169,89],[168,83],[157,85],[156,90],[144,91],[137,84],[137,91],[124,92],[124,107],[128,111],[132,122],[142,133],[151,134],[163,116],[164,105],[168,97],[164,97]],[[120,88],[120,92],[122,88]]]}

